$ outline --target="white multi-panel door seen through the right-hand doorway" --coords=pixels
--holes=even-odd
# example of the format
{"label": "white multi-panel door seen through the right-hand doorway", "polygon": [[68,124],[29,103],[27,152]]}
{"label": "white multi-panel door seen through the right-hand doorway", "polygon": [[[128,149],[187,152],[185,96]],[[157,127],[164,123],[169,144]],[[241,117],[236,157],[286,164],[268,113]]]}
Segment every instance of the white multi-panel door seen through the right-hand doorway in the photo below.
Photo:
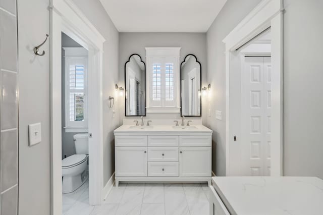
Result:
{"label": "white multi-panel door seen through the right-hand doorway", "polygon": [[270,175],[270,58],[247,57],[241,74],[242,175]]}

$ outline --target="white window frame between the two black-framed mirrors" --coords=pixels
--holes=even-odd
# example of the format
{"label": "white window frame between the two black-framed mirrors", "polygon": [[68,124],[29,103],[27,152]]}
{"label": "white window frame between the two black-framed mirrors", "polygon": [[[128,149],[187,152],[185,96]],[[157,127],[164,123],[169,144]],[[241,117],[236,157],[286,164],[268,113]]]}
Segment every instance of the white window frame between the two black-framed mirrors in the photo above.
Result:
{"label": "white window frame between the two black-framed mirrors", "polygon": [[[146,47],[146,60],[147,60],[147,73],[146,80],[146,112],[147,113],[180,113],[180,49],[181,47]],[[173,63],[173,90],[174,90],[174,101],[166,101],[165,86],[161,87],[161,101],[159,105],[157,102],[152,101],[152,70],[153,64],[161,64],[161,86],[166,86],[166,69],[167,63]],[[164,67],[164,68],[163,68]],[[164,71],[164,73],[163,73]],[[163,82],[164,81],[164,82]]]}

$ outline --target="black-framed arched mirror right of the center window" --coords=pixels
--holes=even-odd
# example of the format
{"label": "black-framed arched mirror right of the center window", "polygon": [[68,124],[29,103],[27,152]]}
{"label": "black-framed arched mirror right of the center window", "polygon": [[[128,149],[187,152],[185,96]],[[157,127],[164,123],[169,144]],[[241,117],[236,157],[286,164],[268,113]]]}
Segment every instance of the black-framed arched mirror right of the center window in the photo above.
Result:
{"label": "black-framed arched mirror right of the center window", "polygon": [[187,55],[181,64],[181,114],[201,116],[201,64]]}

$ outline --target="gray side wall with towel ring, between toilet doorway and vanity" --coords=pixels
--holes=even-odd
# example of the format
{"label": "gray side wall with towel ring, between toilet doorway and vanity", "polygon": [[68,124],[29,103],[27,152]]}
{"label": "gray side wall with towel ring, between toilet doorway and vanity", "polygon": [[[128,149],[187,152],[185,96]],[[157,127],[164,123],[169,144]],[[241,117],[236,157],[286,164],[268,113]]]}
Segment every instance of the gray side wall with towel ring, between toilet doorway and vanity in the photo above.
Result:
{"label": "gray side wall with towel ring, between toilet doorway and vanity", "polygon": [[73,1],[106,39],[103,44],[103,185],[105,185],[115,171],[113,130],[121,125],[118,105],[120,102],[124,103],[124,100],[116,98],[114,108],[110,109],[108,106],[109,95],[115,96],[115,84],[120,84],[118,83],[119,32],[99,0]]}

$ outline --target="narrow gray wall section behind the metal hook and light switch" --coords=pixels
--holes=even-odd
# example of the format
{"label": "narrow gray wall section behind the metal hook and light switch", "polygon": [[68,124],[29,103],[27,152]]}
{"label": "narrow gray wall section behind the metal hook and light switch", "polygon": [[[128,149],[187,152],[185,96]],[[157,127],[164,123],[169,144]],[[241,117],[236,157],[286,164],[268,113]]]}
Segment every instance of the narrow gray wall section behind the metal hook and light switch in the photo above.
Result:
{"label": "narrow gray wall section behind the metal hook and light switch", "polygon": [[[49,42],[45,56],[33,47],[49,33],[48,0],[18,0],[19,214],[50,213]],[[37,11],[37,13],[31,13]],[[29,147],[28,125],[41,123],[41,143]]]}

